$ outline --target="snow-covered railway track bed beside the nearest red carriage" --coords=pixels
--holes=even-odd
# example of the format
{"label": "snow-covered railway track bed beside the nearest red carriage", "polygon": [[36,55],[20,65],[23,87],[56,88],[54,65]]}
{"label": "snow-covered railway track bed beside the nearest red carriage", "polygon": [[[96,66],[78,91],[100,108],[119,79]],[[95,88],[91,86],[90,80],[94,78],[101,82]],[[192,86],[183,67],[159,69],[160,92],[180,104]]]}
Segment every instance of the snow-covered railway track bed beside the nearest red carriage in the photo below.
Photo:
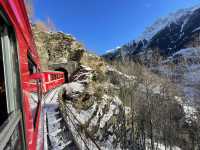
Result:
{"label": "snow-covered railway track bed beside the nearest red carriage", "polygon": [[51,90],[44,96],[46,113],[47,141],[49,150],[78,150],[72,134],[65,124],[58,108],[59,88]]}

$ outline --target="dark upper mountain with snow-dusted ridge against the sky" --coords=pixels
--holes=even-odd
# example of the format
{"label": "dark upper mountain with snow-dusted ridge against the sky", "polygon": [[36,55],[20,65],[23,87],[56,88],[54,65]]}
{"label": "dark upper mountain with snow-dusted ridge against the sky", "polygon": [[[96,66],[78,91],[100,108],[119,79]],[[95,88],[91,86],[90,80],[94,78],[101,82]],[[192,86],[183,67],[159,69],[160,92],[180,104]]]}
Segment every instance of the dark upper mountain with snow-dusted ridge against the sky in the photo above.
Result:
{"label": "dark upper mountain with snow-dusted ridge against the sky", "polygon": [[[170,56],[180,49],[197,47],[194,39],[200,32],[200,6],[181,9],[171,13],[168,17],[158,19],[152,26],[148,27],[142,35],[120,49],[105,54],[106,59],[115,59],[123,56],[144,52],[146,49],[159,49],[161,55]],[[192,45],[193,44],[193,45]]]}

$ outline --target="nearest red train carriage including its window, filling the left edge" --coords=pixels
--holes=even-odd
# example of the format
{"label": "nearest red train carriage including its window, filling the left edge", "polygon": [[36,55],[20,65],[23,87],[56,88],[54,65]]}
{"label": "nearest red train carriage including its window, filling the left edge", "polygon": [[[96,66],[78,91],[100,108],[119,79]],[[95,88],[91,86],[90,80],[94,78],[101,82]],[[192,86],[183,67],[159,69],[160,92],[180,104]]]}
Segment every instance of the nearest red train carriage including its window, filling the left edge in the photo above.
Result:
{"label": "nearest red train carriage including its window, filling the left edge", "polygon": [[31,108],[32,76],[40,72],[23,0],[0,0],[0,149],[44,149],[41,78],[36,110]]}

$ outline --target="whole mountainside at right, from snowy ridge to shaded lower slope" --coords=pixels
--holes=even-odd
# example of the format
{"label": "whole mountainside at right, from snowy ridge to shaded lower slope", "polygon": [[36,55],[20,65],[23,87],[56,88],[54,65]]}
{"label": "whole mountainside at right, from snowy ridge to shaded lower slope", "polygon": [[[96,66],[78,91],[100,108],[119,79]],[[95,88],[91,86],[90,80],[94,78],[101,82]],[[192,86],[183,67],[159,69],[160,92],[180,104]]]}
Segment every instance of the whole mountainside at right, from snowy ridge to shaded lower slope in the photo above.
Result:
{"label": "whole mountainside at right, from snowy ridge to shaded lower slope", "polygon": [[[106,60],[139,61],[182,89],[186,100],[199,103],[200,6],[157,20],[137,40],[103,55]],[[172,66],[173,65],[173,69]],[[176,78],[176,79],[175,79]]]}

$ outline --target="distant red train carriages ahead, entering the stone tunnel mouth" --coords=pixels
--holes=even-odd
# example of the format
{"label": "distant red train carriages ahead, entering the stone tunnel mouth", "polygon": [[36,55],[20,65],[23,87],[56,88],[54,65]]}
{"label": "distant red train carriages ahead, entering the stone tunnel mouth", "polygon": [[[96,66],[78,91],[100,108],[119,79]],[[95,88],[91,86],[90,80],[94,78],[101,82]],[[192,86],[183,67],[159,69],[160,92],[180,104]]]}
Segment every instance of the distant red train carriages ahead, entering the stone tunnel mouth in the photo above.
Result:
{"label": "distant red train carriages ahead, entering the stone tunnel mouth", "polygon": [[35,79],[40,79],[42,92],[46,92],[62,85],[65,82],[64,72],[49,71],[42,73],[35,73],[31,76],[31,81],[28,84],[30,85],[31,92],[38,92],[39,83]]}

